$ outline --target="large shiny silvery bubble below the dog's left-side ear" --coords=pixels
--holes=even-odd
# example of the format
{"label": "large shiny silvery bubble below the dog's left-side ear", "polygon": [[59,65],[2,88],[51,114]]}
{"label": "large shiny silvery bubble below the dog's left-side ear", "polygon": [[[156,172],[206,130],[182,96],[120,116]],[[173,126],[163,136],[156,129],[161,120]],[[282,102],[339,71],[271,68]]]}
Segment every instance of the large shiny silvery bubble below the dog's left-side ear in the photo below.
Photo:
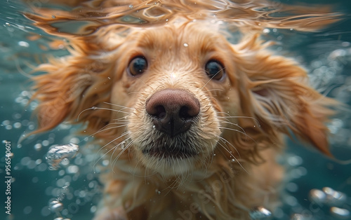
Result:
{"label": "large shiny silvery bubble below the dog's left-side ear", "polygon": [[78,150],[79,146],[72,143],[66,145],[51,146],[51,148],[48,150],[48,153],[46,153],[46,161],[50,165],[49,169],[58,170],[60,163],[63,165],[68,164],[68,160],[74,158]]}

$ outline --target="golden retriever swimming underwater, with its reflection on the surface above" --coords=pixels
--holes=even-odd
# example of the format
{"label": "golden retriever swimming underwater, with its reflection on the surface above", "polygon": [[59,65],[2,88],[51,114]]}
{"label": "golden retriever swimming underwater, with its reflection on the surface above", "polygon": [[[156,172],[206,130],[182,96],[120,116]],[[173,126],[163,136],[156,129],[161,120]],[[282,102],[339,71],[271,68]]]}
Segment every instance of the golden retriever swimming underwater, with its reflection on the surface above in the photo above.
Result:
{"label": "golden retriever swimming underwater, with its reflection on the surface above", "polygon": [[[278,203],[284,135],[330,155],[324,123],[336,102],[260,34],[314,31],[336,15],[279,5],[293,14],[279,22],[256,16],[267,14],[252,9],[266,6],[258,1],[233,2],[216,17],[215,1],[75,1],[73,11],[26,14],[64,36],[70,53],[37,69],[46,72],[34,77],[37,132],[81,123],[111,160],[95,219],[250,219]],[[55,25],[69,21],[95,26],[75,34]]]}

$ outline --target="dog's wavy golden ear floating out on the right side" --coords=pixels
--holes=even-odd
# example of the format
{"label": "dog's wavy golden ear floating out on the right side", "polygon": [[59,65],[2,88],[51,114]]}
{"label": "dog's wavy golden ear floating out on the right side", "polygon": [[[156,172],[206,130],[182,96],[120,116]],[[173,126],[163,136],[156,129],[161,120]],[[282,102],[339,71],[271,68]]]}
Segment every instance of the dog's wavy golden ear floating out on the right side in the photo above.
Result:
{"label": "dog's wavy golden ear floating out on the right side", "polygon": [[330,156],[324,123],[333,114],[330,107],[337,102],[311,88],[305,69],[293,60],[268,53],[256,39],[246,42],[245,47],[253,50],[241,53],[245,57],[241,57],[244,65],[239,65],[239,71],[248,77],[244,93],[252,102],[251,114],[265,126],[261,129],[286,135],[293,132]]}

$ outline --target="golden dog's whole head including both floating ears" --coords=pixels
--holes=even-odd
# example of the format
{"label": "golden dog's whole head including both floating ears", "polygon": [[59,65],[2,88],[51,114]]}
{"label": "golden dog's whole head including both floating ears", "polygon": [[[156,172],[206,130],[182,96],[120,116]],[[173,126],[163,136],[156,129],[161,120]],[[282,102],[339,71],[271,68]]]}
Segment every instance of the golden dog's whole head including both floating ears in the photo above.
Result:
{"label": "golden dog's whole head including both floating ears", "polygon": [[206,22],[116,32],[74,39],[74,55],[41,67],[49,71],[36,78],[41,130],[78,118],[117,157],[164,176],[257,162],[290,131],[329,152],[323,122],[333,102],[257,35],[232,45]]}

